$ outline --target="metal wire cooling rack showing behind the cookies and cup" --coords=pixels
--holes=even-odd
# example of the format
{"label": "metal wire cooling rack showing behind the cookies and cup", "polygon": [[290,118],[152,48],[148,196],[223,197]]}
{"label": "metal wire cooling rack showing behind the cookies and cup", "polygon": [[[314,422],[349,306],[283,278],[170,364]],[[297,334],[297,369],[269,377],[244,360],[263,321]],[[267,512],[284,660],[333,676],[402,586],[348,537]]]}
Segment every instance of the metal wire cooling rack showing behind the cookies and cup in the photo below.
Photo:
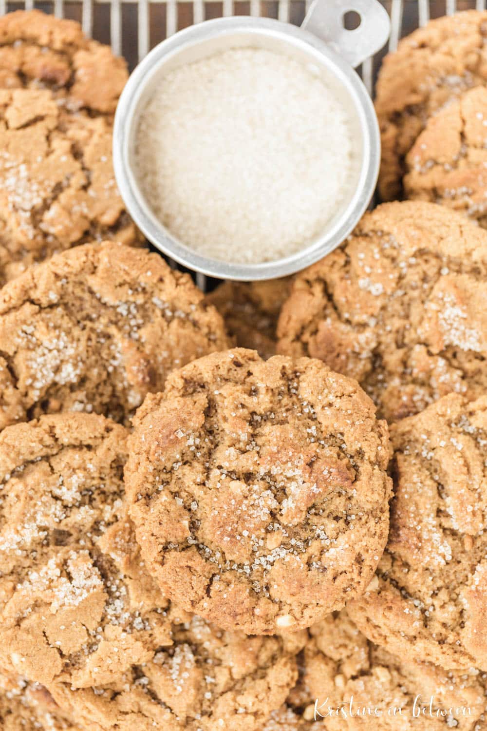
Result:
{"label": "metal wire cooling rack showing behind the cookies and cup", "polygon": [[[326,1],[326,0],[324,0]],[[387,48],[367,58],[358,70],[373,94],[383,56],[395,50],[399,39],[424,26],[430,18],[458,10],[486,10],[487,0],[381,0],[391,17]],[[133,69],[159,42],[193,23],[230,15],[256,15],[301,25],[311,0],[0,0],[0,15],[34,7],[58,18],[71,18],[83,30],[124,56]],[[206,277],[196,275],[206,289]]]}

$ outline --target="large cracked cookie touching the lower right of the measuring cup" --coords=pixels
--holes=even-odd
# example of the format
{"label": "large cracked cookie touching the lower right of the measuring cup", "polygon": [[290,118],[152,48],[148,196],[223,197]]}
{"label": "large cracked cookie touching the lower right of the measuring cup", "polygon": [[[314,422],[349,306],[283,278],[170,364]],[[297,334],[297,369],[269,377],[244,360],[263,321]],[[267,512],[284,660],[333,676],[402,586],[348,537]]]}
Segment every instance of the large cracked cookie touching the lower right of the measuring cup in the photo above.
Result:
{"label": "large cracked cookie touching the lower right of the measuring cup", "polygon": [[277,350],[356,378],[388,421],[450,392],[487,389],[487,234],[459,213],[405,201],[366,213],[300,273]]}

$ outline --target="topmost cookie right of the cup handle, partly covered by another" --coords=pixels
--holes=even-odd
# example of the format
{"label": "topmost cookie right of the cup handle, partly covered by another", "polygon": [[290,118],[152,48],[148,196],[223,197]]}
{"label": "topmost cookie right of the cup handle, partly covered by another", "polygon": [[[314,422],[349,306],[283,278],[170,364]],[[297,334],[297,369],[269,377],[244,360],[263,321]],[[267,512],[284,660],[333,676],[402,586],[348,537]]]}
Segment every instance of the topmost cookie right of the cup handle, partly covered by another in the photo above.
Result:
{"label": "topmost cookie right of the cup handle, partly covered by another", "polygon": [[431,20],[384,59],[375,99],[383,200],[402,194],[404,158],[428,119],[453,97],[486,84],[486,36],[487,12],[458,12]]}

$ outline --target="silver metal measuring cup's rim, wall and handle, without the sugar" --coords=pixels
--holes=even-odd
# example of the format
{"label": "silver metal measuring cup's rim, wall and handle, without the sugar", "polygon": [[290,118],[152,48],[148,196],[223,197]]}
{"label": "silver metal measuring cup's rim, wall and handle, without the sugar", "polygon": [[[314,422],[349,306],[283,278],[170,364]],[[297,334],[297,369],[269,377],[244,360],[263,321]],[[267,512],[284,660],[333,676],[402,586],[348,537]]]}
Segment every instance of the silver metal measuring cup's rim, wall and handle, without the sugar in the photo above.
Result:
{"label": "silver metal measuring cup's rim, wall and handle, without the sugar", "polygon": [[[360,16],[352,31],[346,12]],[[140,230],[164,254],[193,271],[219,279],[273,279],[322,259],[348,236],[369,205],[380,163],[380,134],[367,89],[353,68],[386,43],[388,13],[378,0],[314,0],[301,28],[269,18],[234,17],[207,20],[164,40],[150,51],[129,78],[118,102],[113,131],[115,178],[126,208]],[[356,164],[350,194],[337,206],[326,229],[291,256],[258,264],[234,264],[198,254],[175,238],[151,211],[137,182],[134,141],[139,114],[158,78],[229,48],[266,48],[312,64],[334,84],[350,116]],[[231,241],[229,242],[231,251]]]}

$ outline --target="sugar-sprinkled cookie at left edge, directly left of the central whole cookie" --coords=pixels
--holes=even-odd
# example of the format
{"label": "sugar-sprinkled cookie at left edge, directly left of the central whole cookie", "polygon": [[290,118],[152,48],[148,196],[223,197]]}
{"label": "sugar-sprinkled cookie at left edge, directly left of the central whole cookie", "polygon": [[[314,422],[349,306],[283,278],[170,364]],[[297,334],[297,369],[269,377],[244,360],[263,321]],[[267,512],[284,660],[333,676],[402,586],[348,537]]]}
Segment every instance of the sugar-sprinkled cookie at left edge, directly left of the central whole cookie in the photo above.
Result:
{"label": "sugar-sprinkled cookie at left edge, directly left of the central whole cookie", "polygon": [[127,431],[54,414],[0,434],[0,667],[110,683],[169,642],[164,596],[122,520]]}

